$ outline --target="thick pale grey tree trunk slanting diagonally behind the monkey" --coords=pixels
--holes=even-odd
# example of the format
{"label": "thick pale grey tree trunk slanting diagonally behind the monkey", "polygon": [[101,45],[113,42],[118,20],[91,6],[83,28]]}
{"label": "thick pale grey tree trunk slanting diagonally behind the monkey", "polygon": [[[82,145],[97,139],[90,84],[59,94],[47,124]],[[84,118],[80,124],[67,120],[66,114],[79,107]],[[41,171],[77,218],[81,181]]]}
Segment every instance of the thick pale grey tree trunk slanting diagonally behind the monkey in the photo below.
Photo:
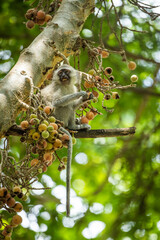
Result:
{"label": "thick pale grey tree trunk slanting diagonally behind the monkey", "polygon": [[73,54],[83,23],[94,8],[94,0],[63,0],[55,17],[24,49],[16,65],[0,82],[0,137],[11,127],[22,107],[30,102],[33,85],[40,86],[49,69]]}

